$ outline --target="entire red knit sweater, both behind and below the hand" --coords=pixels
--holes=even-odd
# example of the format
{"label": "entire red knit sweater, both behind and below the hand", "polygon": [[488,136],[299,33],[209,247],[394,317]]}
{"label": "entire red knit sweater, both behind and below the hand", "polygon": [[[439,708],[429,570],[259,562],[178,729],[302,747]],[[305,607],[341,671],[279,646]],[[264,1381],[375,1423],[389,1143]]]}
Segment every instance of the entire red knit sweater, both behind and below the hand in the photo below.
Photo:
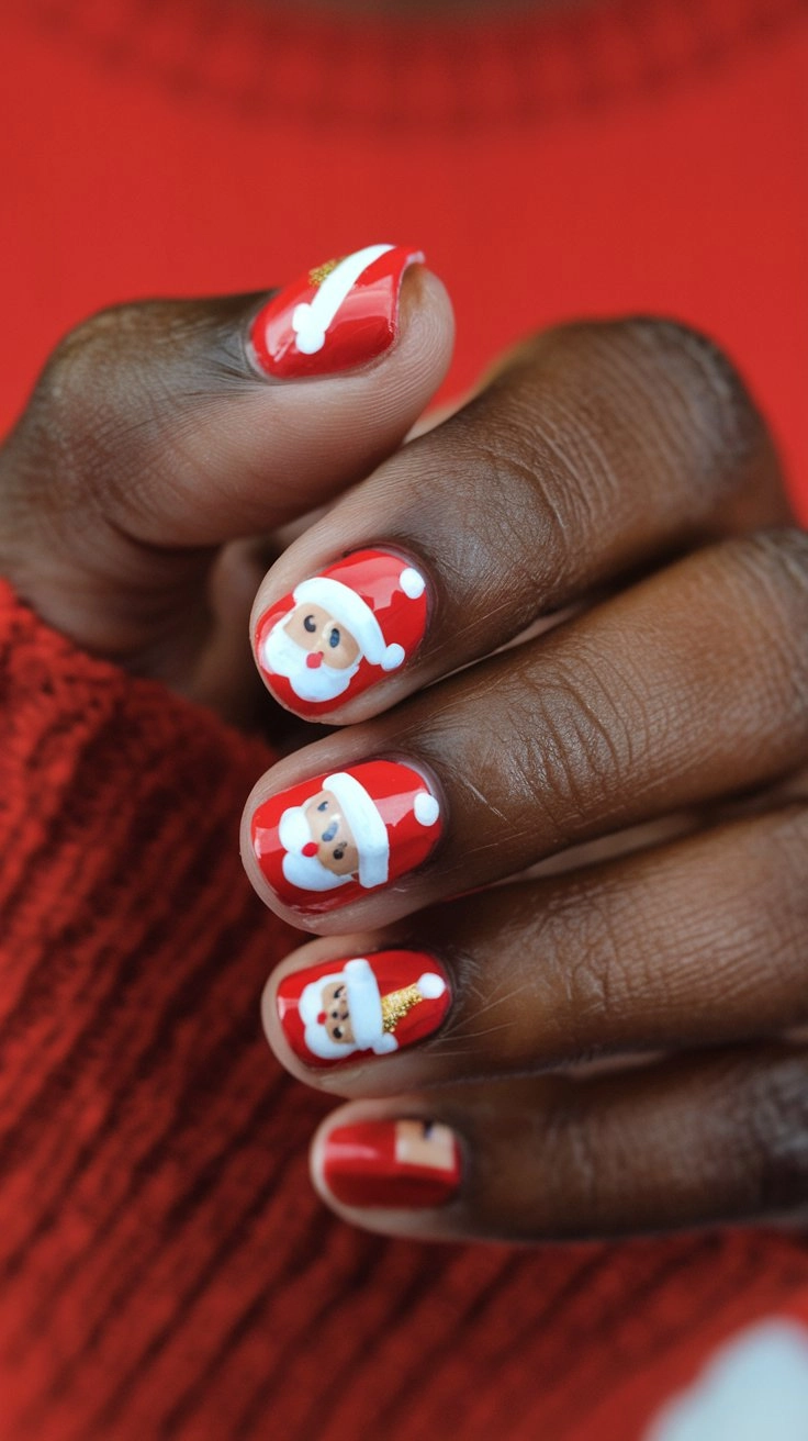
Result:
{"label": "entire red knit sweater, both behind and below the hand", "polygon": [[[675,314],[746,370],[808,510],[799,0],[4,12],[3,422],[98,305],[403,236],[457,304],[449,389],[556,318]],[[4,1441],[639,1441],[720,1340],[808,1321],[792,1235],[527,1252],[334,1221],[305,1174],[328,1102],[259,1032],[289,934],[236,837],[268,754],[3,588],[0,687]]]}

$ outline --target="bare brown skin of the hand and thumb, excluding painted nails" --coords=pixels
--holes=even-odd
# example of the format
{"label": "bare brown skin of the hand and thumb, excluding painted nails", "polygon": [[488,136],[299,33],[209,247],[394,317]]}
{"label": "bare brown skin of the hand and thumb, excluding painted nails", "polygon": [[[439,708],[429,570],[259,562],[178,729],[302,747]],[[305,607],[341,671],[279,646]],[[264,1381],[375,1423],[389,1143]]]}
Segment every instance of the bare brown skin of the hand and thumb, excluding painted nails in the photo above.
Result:
{"label": "bare brown skin of the hand and thumb, excluding painted nails", "polygon": [[[305,385],[249,372],[264,298],[131,307],[71,337],[0,454],[0,559],[79,643],[236,716],[255,700],[229,659],[248,594],[255,620],[382,540],[429,578],[413,663],[338,732],[302,728],[245,807],[249,837],[266,795],[390,757],[445,817],[421,870],[314,919],[268,983],[282,1062],[347,1099],[314,1140],[315,1185],[350,1221],[418,1236],[799,1216],[808,539],[743,383],[670,321],[582,323],[402,448],[451,352],[439,284],[409,272],[393,350]],[[232,546],[265,550],[340,496],[262,579]],[[249,843],[245,865],[282,914]],[[390,945],[445,965],[445,1025],[304,1071],[274,1020],[279,976]],[[608,1072],[565,1069],[592,1059]],[[324,1143],[363,1118],[448,1127],[457,1199],[337,1203]]]}

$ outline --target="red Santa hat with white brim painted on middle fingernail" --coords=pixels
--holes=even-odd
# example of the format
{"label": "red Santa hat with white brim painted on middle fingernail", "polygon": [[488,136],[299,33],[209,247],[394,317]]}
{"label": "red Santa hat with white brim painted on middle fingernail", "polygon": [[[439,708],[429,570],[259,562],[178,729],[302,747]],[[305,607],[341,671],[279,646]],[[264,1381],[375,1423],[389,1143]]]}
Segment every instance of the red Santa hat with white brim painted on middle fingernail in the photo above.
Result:
{"label": "red Santa hat with white brim painted on middle fingernail", "polygon": [[[402,790],[403,775],[415,782],[410,790]],[[351,830],[359,852],[359,883],[366,891],[383,886],[389,879],[390,830],[395,827],[396,873],[412,870],[429,855],[441,814],[436,797],[415,771],[376,762],[373,778],[373,795],[349,771],[337,771],[323,781],[323,790],[331,791]],[[400,865],[405,857],[406,865]]]}

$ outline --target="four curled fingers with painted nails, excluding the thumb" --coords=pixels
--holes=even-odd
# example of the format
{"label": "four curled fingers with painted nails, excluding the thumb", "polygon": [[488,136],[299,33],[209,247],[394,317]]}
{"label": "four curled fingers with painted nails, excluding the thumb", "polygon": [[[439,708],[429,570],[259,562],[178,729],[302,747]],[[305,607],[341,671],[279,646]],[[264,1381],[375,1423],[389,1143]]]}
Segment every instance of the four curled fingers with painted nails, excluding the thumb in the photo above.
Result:
{"label": "four curled fingers with painted nails, excluding the thumb", "polygon": [[[264,1013],[350,1099],[328,1205],[508,1239],[804,1208],[808,539],[714,347],[540,337],[291,545],[252,634],[284,703],[350,722],[243,826],[321,935]],[[560,1071],[592,1058],[622,1059]]]}

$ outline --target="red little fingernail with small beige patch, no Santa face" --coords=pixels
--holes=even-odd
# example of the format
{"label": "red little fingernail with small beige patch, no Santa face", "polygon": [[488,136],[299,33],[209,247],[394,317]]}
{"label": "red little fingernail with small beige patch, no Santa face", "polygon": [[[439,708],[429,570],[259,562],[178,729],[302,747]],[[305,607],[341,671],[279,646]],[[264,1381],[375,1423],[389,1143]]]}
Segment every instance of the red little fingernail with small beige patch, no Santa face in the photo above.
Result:
{"label": "red little fingernail with small beige patch, no Santa face", "polygon": [[321,1144],[323,1182],[344,1206],[445,1206],[459,1190],[459,1146],[438,1121],[354,1121]]}

